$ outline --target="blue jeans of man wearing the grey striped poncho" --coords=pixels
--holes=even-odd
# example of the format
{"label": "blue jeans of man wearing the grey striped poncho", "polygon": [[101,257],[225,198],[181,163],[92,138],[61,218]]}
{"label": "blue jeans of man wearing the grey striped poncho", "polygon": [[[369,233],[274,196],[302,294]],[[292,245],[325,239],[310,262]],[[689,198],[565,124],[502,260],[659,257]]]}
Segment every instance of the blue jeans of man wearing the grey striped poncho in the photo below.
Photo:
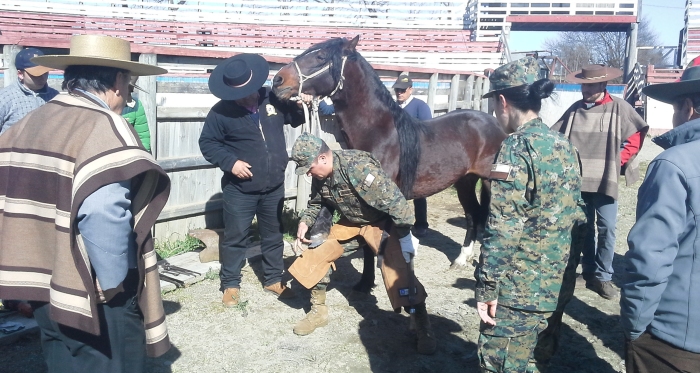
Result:
{"label": "blue jeans of man wearing the grey striped poncho", "polygon": [[602,193],[582,192],[581,197],[586,203],[588,220],[581,259],[582,272],[595,274],[601,281],[610,281],[614,272],[612,262],[615,257],[617,201]]}

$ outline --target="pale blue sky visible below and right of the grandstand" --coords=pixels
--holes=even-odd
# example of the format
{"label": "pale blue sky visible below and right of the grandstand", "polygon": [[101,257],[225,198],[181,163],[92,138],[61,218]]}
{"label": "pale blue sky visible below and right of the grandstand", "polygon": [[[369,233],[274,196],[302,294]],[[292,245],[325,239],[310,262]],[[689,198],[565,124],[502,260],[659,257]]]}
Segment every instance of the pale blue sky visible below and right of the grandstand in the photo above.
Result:
{"label": "pale blue sky visible below and right of the grandstand", "polygon": [[[684,26],[685,0],[643,0],[642,16],[651,21],[661,45],[675,46],[678,44],[678,33]],[[541,50],[545,40],[556,36],[556,32],[514,31],[510,35],[510,50]]]}

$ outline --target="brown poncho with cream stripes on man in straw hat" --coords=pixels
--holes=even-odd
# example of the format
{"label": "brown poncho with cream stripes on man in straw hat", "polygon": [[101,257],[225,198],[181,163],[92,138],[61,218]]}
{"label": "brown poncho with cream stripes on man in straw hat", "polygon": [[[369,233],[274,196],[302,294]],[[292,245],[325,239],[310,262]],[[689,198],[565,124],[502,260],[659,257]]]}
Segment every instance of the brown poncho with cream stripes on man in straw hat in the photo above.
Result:
{"label": "brown poncho with cream stripes on man in straw hat", "polygon": [[151,228],[170,180],[121,116],[87,97],[59,95],[0,137],[0,298],[49,302],[51,318],[99,334],[104,300],[75,217],[98,188],[132,180],[139,306],[148,353],[165,353]]}

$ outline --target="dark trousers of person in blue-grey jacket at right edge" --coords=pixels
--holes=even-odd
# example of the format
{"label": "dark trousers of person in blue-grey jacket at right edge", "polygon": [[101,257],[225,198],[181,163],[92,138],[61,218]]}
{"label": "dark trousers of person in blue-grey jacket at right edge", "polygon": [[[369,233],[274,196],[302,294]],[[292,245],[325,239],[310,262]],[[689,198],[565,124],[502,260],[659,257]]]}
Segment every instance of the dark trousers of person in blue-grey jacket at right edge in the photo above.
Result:
{"label": "dark trousers of person in blue-grey jacket at right edge", "polygon": [[700,372],[700,354],[672,346],[648,332],[627,341],[627,373]]}

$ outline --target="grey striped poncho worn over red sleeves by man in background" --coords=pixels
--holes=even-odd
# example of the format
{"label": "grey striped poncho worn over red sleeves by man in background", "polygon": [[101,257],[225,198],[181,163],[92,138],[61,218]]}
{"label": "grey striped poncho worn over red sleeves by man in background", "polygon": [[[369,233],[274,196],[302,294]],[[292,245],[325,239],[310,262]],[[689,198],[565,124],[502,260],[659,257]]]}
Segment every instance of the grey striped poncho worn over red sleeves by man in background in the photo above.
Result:
{"label": "grey striped poncho worn over red sleeves by man in background", "polygon": [[[577,101],[551,128],[563,133],[578,149],[583,173],[581,191],[617,199],[622,143],[637,132],[646,134],[649,126],[625,100],[611,98],[613,102],[590,109]],[[627,162],[624,175],[627,185],[639,179],[636,157]]]}

